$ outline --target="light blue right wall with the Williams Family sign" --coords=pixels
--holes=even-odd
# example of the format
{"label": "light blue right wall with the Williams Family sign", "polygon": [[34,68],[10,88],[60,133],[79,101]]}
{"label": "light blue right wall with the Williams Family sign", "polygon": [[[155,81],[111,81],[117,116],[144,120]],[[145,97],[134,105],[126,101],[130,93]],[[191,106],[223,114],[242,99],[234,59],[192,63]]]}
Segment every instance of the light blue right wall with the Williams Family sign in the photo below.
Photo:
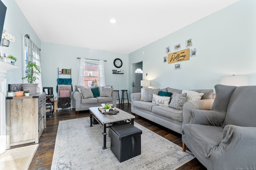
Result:
{"label": "light blue right wall with the Williams Family sign", "polygon": [[[175,24],[175,23],[173,23]],[[197,56],[180,62],[182,68],[163,62],[165,48],[192,38]],[[248,75],[249,85],[256,85],[256,0],[240,0],[202,20],[196,21],[150,45],[129,54],[129,82],[132,64],[143,61],[143,77],[152,88],[214,89],[221,76]],[[144,54],[143,54],[144,53]],[[146,72],[148,76],[146,76]],[[129,86],[132,91],[132,86]]]}

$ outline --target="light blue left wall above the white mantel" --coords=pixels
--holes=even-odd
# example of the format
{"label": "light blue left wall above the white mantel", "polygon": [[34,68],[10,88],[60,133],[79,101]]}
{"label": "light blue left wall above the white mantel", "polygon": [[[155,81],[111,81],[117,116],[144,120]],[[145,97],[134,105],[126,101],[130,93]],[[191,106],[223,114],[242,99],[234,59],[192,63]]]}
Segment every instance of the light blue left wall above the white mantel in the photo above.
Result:
{"label": "light blue left wall above the white mantel", "polygon": [[22,83],[22,62],[23,62],[23,39],[24,35],[29,34],[31,39],[40,48],[41,41],[28,23],[27,19],[21,12],[15,0],[2,0],[7,7],[4,20],[4,29],[6,32],[14,35],[15,42],[10,43],[9,47],[0,47],[1,51],[5,51],[8,55],[13,55],[17,58],[16,66],[18,69],[10,70],[6,74],[7,84]]}

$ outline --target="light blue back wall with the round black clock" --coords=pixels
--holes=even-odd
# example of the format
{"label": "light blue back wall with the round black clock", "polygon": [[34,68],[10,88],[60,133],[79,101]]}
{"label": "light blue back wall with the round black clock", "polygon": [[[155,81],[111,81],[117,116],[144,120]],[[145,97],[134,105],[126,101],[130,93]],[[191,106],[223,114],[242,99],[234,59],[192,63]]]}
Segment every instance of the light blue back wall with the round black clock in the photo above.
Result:
{"label": "light blue back wall with the round black clock", "polygon": [[[128,54],[42,42],[41,55],[42,85],[43,87],[54,87],[54,95],[57,95],[58,67],[60,69],[71,68],[72,85],[73,90],[75,90],[75,85],[78,83],[80,61],[76,59],[77,57],[107,60],[104,62],[106,85],[112,85],[116,90],[128,88]],[[116,58],[122,60],[123,66],[121,68],[114,67],[113,62]],[[124,74],[112,74],[112,69],[122,69]],[[62,75],[60,78],[70,78],[64,76],[67,75]]]}

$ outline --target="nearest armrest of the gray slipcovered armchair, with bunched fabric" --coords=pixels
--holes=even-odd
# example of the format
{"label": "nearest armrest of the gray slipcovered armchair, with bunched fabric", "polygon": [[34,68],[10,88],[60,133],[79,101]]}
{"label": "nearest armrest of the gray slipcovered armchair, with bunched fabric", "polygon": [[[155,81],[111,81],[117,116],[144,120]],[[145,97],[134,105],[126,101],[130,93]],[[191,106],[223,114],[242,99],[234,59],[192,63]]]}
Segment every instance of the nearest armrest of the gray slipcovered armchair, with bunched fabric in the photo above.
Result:
{"label": "nearest armrest of the gray slipcovered armchair, with bunched fabric", "polygon": [[210,167],[214,164],[220,169],[255,169],[255,141],[256,127],[226,125],[220,145],[208,148],[206,156],[214,157],[210,159]]}

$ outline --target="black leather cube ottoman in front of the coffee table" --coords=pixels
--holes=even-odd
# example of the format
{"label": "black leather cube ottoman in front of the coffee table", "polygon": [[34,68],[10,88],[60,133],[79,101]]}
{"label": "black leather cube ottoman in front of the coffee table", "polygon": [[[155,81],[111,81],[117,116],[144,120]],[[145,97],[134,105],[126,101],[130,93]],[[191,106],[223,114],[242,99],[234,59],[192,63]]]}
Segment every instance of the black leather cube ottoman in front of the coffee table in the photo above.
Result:
{"label": "black leather cube ottoman in front of the coffee table", "polygon": [[141,154],[140,135],[142,131],[130,123],[109,128],[111,133],[111,150],[123,162]]}

